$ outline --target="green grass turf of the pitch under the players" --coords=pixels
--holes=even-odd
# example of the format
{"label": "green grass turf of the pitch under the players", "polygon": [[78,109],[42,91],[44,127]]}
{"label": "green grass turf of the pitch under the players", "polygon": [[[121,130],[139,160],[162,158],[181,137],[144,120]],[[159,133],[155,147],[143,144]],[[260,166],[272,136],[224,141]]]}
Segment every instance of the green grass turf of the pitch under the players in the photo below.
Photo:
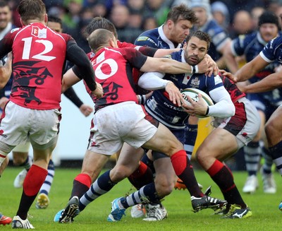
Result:
{"label": "green grass turf of the pitch under the players", "polygon": [[[7,168],[0,179],[0,211],[13,217],[18,209],[22,189],[13,188],[13,179],[20,168]],[[278,184],[276,194],[264,194],[262,180],[259,175],[259,189],[255,194],[242,194],[245,202],[252,209],[252,218],[242,220],[221,219],[219,215],[212,215],[210,209],[192,213],[190,195],[188,191],[174,190],[166,197],[163,204],[168,211],[168,218],[161,222],[147,223],[142,218],[131,218],[130,209],[126,216],[118,223],[109,223],[106,218],[111,211],[111,201],[130,191],[130,183],[123,180],[108,194],[92,202],[85,211],[82,211],[72,224],[54,223],[54,215],[68,202],[71,194],[73,178],[80,172],[79,169],[57,169],[54,183],[49,194],[50,205],[45,210],[30,208],[30,223],[37,230],[281,230],[282,213],[278,210],[282,196],[281,177],[276,172]],[[212,196],[222,199],[221,192],[206,172],[195,171],[196,177],[204,189],[212,185]],[[235,183],[241,191],[245,183],[246,172],[234,172]],[[1,230],[10,230],[11,225],[0,227]]]}

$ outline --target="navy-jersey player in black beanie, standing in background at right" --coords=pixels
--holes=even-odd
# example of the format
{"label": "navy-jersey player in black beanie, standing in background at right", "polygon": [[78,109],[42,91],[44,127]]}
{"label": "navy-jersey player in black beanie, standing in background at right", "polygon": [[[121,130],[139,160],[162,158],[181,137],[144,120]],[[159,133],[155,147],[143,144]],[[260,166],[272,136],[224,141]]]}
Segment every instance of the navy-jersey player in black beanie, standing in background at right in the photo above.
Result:
{"label": "navy-jersey player in black beanie, standing in background at right", "polygon": [[[281,36],[279,32],[278,16],[271,11],[265,11],[259,16],[258,26],[259,30],[249,35],[239,36],[235,38],[231,45],[226,47],[224,57],[226,64],[232,73],[238,71],[238,64],[235,61],[237,56],[245,56],[247,62],[252,61],[259,52],[264,49],[267,42],[274,39],[274,37]],[[255,74],[247,83],[255,83],[262,78],[268,76],[281,66],[278,60],[271,62],[264,69]],[[244,83],[244,84],[247,84]],[[242,83],[241,83],[242,84]],[[274,177],[271,174],[271,166],[273,160],[269,156],[267,149],[267,142],[265,141],[264,125],[271,114],[281,104],[282,88],[276,88],[265,93],[248,93],[247,98],[255,105],[261,117],[261,126],[259,133],[254,141],[250,142],[248,146],[244,147],[246,169],[248,173],[247,180],[243,186],[243,192],[254,193],[258,186],[257,172],[259,170],[259,162],[261,155],[264,156],[264,164],[262,165],[262,180],[263,189],[265,193],[274,194],[276,192],[276,184]],[[264,143],[264,145],[262,145]]]}

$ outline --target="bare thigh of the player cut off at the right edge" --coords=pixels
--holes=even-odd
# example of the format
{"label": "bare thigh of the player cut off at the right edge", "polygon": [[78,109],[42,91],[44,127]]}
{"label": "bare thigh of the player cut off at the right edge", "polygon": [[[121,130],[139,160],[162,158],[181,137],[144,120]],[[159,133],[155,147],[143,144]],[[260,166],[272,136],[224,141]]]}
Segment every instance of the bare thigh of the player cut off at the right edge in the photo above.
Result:
{"label": "bare thigh of the player cut off at the right edge", "polygon": [[282,106],[279,106],[265,124],[265,133],[269,146],[276,145],[282,136]]}

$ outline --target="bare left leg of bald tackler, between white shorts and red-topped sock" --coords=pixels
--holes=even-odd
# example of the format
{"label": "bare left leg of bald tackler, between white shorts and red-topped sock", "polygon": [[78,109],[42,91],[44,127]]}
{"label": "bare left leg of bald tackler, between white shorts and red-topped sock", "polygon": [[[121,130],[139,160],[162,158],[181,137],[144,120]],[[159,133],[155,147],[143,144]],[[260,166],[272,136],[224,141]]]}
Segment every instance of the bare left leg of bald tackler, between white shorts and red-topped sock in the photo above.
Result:
{"label": "bare left leg of bald tackler, between white shorts and red-topped sock", "polygon": [[90,175],[92,180],[97,178],[110,157],[111,155],[98,154],[91,150],[86,150],[81,173]]}

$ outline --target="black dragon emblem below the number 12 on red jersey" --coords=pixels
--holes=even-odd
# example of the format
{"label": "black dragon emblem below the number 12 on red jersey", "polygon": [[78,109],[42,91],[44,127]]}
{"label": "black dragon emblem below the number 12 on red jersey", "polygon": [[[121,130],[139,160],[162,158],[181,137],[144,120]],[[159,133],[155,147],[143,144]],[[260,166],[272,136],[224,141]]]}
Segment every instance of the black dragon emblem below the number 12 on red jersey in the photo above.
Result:
{"label": "black dragon emblem below the number 12 on red jersey", "polygon": [[48,77],[53,78],[45,66],[32,67],[39,61],[19,61],[13,64],[13,88],[11,94],[19,93],[20,97],[25,99],[25,105],[35,100],[38,105],[42,101],[35,96],[37,87],[30,87],[30,81],[36,85],[42,85]]}

